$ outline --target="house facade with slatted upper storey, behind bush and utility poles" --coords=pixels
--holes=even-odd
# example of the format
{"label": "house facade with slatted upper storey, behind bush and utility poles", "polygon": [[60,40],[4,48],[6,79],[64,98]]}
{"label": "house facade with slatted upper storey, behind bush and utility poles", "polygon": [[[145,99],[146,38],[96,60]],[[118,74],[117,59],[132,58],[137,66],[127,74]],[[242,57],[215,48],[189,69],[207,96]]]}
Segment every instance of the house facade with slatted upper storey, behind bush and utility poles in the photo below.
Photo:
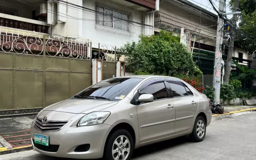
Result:
{"label": "house facade with slatted upper storey, behind bush and utility poles", "polygon": [[[216,30],[218,16],[211,13],[209,6],[198,6],[188,0],[160,0],[160,9],[155,12],[155,32],[161,28],[173,31],[181,37],[181,43],[187,45],[193,53],[194,61],[203,74],[213,74]],[[224,39],[223,60],[226,62],[228,41]],[[221,48],[221,46],[220,46]],[[247,52],[235,46],[233,60],[249,65]],[[236,68],[233,68],[235,71]]]}

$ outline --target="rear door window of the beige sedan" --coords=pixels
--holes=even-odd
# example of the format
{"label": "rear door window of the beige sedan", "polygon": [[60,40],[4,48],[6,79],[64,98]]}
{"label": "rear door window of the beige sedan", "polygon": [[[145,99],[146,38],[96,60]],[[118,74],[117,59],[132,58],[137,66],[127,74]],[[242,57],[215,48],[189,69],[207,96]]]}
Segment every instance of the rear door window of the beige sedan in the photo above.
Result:
{"label": "rear door window of the beige sedan", "polygon": [[186,91],[185,87],[183,86],[182,82],[179,82],[179,81],[176,81],[173,79],[168,79],[166,82],[168,82],[169,85],[171,86],[174,97],[187,96],[187,91]]}

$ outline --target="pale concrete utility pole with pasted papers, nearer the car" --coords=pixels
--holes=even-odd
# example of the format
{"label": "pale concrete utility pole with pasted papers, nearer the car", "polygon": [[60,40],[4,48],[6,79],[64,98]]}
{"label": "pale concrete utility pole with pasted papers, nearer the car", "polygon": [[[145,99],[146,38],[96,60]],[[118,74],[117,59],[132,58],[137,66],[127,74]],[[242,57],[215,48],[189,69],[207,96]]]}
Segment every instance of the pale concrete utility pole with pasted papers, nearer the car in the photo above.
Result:
{"label": "pale concrete utility pole with pasted papers, nearer the car", "polygon": [[[226,8],[226,0],[219,0],[220,15],[224,12],[225,8]],[[213,87],[215,87],[215,91],[214,91],[215,104],[219,104],[219,96],[220,96],[220,77],[221,77],[221,60],[222,60],[221,44],[223,41],[223,25],[224,25],[224,22],[222,17],[218,16],[214,73],[213,73]]]}

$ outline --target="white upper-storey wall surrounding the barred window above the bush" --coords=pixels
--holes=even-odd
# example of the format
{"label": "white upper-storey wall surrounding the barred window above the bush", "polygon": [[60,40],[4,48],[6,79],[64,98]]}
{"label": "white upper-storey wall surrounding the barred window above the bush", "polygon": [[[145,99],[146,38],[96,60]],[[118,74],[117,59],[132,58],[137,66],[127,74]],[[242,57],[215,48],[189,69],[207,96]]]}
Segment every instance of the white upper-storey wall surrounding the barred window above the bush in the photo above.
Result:
{"label": "white upper-storey wall surrounding the barred window above the bush", "polygon": [[[111,5],[115,8],[126,10],[133,14],[133,21],[142,23],[142,12],[137,11],[135,9],[131,9],[119,4],[114,4],[108,0],[98,0],[100,2],[104,2],[107,5]],[[96,10],[96,0],[83,0],[83,6],[86,8],[90,8]],[[99,30],[95,28],[95,13],[85,12],[82,16],[84,19],[91,19],[91,21],[83,21],[82,22],[82,37],[85,39],[92,40],[92,47],[98,48],[98,43],[101,44],[109,44],[115,45],[118,47],[122,46],[126,42],[137,41],[138,35],[142,34],[142,26],[136,24],[135,33],[133,35],[121,35],[120,33],[113,33],[105,30]]]}

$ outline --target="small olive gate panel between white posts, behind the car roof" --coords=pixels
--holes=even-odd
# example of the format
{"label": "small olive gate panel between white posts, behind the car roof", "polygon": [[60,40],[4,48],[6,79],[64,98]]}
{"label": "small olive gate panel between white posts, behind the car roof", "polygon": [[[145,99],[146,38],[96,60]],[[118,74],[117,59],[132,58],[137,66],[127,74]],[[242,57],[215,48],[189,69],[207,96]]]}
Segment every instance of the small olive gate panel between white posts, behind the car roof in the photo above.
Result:
{"label": "small olive gate panel between white posts, behind the car roof", "polygon": [[103,80],[115,77],[116,63],[103,61]]}

